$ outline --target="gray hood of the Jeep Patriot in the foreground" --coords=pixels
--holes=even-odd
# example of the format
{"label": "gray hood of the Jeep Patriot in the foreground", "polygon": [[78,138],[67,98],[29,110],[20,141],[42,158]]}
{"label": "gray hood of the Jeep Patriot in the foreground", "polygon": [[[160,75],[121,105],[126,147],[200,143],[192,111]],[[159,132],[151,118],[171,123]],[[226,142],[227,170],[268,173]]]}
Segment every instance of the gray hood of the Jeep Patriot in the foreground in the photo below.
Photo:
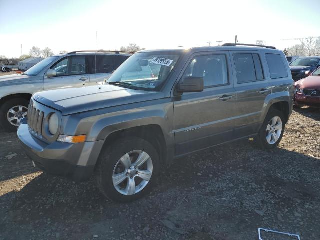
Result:
{"label": "gray hood of the Jeep Patriot in the foreground", "polygon": [[109,84],[42,91],[33,95],[34,100],[61,111],[63,115],[163,97],[163,92],[133,90]]}

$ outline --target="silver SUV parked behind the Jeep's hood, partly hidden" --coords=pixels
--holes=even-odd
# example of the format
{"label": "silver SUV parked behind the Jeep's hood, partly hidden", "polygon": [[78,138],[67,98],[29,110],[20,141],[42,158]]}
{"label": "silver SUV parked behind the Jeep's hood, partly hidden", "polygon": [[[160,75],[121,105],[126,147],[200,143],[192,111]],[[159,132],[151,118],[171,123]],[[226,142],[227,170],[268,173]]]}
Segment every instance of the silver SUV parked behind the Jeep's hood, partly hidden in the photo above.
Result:
{"label": "silver SUV parked behind the Jeep's hood, partly hidden", "polygon": [[119,51],[73,51],[50,56],[22,74],[0,76],[0,126],[16,131],[27,116],[34,92],[95,85],[131,54]]}

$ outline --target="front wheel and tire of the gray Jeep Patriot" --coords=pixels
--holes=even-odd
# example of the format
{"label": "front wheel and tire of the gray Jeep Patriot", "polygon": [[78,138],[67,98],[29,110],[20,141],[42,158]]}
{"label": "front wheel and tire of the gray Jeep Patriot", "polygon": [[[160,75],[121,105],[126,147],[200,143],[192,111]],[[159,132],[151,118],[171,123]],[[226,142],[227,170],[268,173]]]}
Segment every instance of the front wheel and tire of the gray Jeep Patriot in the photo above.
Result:
{"label": "front wheel and tire of the gray Jeep Patriot", "polygon": [[159,155],[152,144],[138,137],[126,137],[102,150],[95,179],[104,196],[129,202],[150,192],[158,172]]}

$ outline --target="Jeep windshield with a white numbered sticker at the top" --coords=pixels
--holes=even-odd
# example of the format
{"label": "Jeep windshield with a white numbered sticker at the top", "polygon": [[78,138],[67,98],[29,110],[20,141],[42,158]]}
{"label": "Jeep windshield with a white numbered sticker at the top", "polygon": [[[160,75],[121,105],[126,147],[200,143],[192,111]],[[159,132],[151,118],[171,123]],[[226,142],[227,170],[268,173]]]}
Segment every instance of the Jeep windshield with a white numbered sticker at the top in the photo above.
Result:
{"label": "Jeep windshield with a white numbered sticker at the top", "polygon": [[156,90],[165,82],[180,53],[141,52],[129,57],[107,80],[125,86]]}

